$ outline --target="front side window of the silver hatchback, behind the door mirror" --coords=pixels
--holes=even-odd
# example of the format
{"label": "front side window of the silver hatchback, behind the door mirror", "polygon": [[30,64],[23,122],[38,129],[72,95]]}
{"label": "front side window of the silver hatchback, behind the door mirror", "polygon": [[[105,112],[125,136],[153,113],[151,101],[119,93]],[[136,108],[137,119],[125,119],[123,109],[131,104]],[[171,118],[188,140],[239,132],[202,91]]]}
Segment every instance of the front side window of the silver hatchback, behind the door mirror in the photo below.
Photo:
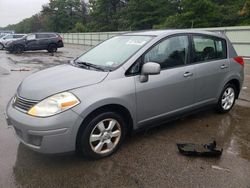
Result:
{"label": "front side window of the silver hatchback, behind the door mirror", "polygon": [[144,63],[156,62],[161,68],[170,68],[187,64],[188,37],[175,36],[163,40],[144,55]]}

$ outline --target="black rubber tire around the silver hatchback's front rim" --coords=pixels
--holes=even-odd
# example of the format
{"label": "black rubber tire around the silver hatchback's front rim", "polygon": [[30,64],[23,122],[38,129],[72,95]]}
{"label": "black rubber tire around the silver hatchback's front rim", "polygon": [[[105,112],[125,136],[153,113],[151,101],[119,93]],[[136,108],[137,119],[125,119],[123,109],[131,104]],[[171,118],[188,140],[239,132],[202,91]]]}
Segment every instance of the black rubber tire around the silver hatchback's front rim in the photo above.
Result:
{"label": "black rubber tire around the silver hatchback's front rim", "polygon": [[[90,135],[92,135],[93,131],[96,130],[96,128],[100,122],[102,122],[103,120],[107,120],[107,119],[114,119],[118,122],[118,124],[120,125],[120,129],[119,129],[120,130],[120,137],[119,137],[119,140],[116,141],[116,144],[114,144],[114,148],[111,151],[108,151],[106,153],[101,153],[101,154],[96,153],[95,151],[93,151],[94,148],[93,148],[93,145],[91,145],[91,144],[94,142],[91,143]],[[118,124],[116,124],[116,125],[118,125]],[[116,112],[100,113],[99,115],[94,116],[93,119],[90,119],[88,122],[86,122],[83,126],[86,126],[86,127],[79,130],[76,150],[78,153],[80,153],[81,155],[83,155],[87,159],[100,159],[100,158],[107,157],[107,156],[114,154],[118,150],[118,148],[120,147],[120,145],[123,142],[125,135],[126,135],[126,127],[125,127],[124,118],[121,115],[117,114]],[[105,126],[105,128],[107,128],[107,125]],[[114,126],[114,128],[115,128],[115,126]],[[115,129],[113,129],[113,130],[115,130]],[[99,134],[103,135],[103,133],[101,133],[101,132]],[[112,138],[110,138],[110,140],[111,139]],[[96,143],[96,146],[97,146],[102,141],[98,140],[96,142],[97,142]],[[106,146],[103,145],[102,147],[104,149],[106,147],[106,150],[109,150],[108,144],[106,144]]]}

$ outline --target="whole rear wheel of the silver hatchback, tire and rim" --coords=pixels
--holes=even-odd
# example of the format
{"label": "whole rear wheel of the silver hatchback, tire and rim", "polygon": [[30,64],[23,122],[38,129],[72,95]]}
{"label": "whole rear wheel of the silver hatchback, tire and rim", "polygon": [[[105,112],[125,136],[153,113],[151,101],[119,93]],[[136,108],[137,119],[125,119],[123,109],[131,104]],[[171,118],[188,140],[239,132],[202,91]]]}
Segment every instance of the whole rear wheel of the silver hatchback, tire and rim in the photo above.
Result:
{"label": "whole rear wheel of the silver hatchback, tire and rim", "polygon": [[236,87],[233,84],[227,84],[224,87],[220,99],[217,103],[217,111],[220,113],[229,112],[234,106],[236,96]]}

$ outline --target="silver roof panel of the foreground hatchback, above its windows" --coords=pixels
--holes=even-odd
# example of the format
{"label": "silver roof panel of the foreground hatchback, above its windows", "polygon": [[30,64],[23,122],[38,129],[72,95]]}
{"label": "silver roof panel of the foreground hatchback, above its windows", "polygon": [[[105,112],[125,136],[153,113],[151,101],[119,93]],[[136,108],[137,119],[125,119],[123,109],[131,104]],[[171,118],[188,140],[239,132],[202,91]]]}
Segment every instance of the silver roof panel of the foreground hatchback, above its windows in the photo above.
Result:
{"label": "silver roof panel of the foreground hatchback, above its windows", "polygon": [[198,29],[169,29],[169,30],[147,30],[147,31],[134,31],[128,32],[124,35],[141,35],[141,36],[155,36],[163,37],[171,34],[205,34],[220,38],[225,38],[221,33],[215,33],[210,31],[198,30]]}

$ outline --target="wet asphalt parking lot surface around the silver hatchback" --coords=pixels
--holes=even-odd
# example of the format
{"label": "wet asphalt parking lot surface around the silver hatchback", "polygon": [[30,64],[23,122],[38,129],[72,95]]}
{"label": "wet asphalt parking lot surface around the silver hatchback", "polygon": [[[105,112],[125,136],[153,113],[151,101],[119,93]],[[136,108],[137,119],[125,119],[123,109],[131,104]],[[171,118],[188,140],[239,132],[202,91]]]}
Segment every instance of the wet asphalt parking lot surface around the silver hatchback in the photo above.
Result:
{"label": "wet asphalt parking lot surface around the silver hatchback", "polygon": [[[250,64],[229,114],[201,111],[126,139],[113,156],[87,161],[75,154],[41,155],[20,144],[4,109],[21,80],[38,70],[67,63],[86,48],[69,46],[53,56],[0,51],[0,188],[8,187],[235,187],[250,188]],[[20,71],[22,70],[22,71]],[[216,139],[220,158],[185,157],[176,143]]]}

